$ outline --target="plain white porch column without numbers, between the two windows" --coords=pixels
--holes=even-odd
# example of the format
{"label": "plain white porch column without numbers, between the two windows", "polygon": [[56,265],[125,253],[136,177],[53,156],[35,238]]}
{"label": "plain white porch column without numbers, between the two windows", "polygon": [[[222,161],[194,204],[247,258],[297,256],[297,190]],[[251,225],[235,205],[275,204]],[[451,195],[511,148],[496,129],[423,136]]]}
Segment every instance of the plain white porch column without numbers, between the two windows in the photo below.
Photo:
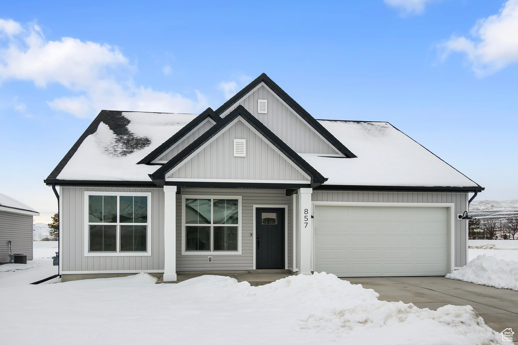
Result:
{"label": "plain white porch column without numbers, between the two windows", "polygon": [[164,186],[164,281],[176,281],[176,186]]}

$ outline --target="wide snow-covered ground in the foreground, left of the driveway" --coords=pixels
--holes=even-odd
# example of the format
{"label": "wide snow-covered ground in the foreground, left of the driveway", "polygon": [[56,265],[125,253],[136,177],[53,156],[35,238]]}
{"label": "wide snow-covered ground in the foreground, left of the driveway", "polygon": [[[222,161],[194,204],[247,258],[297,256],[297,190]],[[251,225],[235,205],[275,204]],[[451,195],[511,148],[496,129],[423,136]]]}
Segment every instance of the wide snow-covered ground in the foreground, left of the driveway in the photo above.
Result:
{"label": "wide snow-covered ground in the foreground, left of the driveway", "polygon": [[[126,278],[0,288],[5,343],[38,344],[479,344],[501,343],[470,306],[437,311],[334,275],[251,287],[203,276],[155,284]],[[30,320],[30,322],[19,322]]]}

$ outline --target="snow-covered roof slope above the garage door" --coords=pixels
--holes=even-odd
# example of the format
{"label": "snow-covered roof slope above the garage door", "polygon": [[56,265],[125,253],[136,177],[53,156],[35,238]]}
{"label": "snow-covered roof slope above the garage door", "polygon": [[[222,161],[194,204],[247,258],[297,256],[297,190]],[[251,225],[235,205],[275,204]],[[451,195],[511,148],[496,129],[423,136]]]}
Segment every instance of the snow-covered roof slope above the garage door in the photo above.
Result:
{"label": "snow-covered roof slope above the garage door", "polygon": [[319,120],[357,158],[300,154],[326,185],[477,187],[462,173],[386,122]]}

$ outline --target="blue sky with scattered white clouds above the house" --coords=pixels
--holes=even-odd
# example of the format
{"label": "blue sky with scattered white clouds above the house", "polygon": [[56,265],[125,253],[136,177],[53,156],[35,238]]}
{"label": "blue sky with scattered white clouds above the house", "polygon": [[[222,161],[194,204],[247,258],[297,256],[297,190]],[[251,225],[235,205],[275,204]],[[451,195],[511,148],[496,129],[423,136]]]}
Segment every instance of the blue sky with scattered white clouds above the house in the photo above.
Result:
{"label": "blue sky with scattered white clouds above the house", "polygon": [[518,198],[517,62],[518,0],[3,3],[0,192],[47,217],[42,180],[99,110],[199,113],[265,72]]}

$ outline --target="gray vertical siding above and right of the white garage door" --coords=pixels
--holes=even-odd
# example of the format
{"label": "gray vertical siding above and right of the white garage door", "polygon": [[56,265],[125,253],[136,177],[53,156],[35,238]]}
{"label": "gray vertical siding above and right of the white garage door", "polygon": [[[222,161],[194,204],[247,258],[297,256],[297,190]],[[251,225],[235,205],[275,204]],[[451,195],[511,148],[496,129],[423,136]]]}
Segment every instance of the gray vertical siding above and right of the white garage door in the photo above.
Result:
{"label": "gray vertical siding above and right of the white garage door", "polygon": [[[408,202],[408,203],[453,203],[454,213],[462,214],[467,211],[467,193],[427,193],[427,192],[360,192],[360,191],[321,191],[314,190],[313,201],[338,202]],[[467,264],[467,221],[455,217],[454,229],[454,266]]]}

